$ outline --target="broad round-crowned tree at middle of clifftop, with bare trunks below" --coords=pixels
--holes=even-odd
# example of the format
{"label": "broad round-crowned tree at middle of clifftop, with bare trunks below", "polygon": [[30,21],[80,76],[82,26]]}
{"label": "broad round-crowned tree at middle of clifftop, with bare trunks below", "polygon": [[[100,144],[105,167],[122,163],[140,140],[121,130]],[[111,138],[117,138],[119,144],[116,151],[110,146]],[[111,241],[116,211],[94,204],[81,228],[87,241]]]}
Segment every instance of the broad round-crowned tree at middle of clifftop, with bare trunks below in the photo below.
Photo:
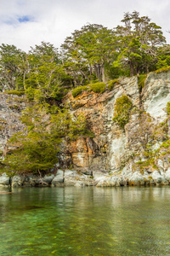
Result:
{"label": "broad round-crowned tree at middle of clifftop, with bare trunks below", "polygon": [[114,55],[114,33],[102,25],[88,24],[72,33],[61,45],[67,60],[77,67],[88,82],[95,74],[99,81],[106,81],[105,67]]}

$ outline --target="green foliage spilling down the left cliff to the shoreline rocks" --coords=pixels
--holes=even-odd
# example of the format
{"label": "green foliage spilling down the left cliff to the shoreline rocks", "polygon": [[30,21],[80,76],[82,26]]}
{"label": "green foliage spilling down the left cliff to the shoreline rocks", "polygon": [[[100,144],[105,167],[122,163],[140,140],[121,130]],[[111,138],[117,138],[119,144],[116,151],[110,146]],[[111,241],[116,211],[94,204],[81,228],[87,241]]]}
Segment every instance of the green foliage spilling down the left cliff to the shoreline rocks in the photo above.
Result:
{"label": "green foliage spilling down the left cliff to the shoreline rocks", "polygon": [[9,175],[48,172],[58,161],[62,138],[70,142],[81,135],[92,136],[83,114],[72,117],[67,110],[51,109],[47,103],[26,108],[21,121],[26,129],[8,141],[1,168]]}

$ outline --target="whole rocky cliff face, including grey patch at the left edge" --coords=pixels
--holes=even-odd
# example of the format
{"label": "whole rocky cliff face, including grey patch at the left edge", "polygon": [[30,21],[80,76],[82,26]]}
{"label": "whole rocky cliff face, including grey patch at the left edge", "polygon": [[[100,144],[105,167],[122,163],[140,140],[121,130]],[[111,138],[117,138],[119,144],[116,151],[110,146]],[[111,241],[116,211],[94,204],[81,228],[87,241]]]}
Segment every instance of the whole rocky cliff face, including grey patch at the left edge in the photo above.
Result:
{"label": "whole rocky cliff face, including grey patch at the left edge", "polygon": [[[129,121],[122,129],[113,121],[116,99],[126,95],[133,102]],[[14,96],[14,100],[20,97]],[[23,126],[18,119],[24,103],[10,102],[1,95],[1,148],[12,133]],[[60,168],[93,175],[95,184],[125,185],[170,182],[170,120],[167,115],[170,102],[170,71],[148,74],[144,89],[139,92],[138,78],[122,79],[113,90],[103,94],[83,91],[73,98],[71,93],[64,103],[77,117],[83,113],[88,129],[94,137],[79,137],[71,144],[61,145]],[[20,108],[20,109],[18,109]],[[99,178],[100,177],[100,178]]]}

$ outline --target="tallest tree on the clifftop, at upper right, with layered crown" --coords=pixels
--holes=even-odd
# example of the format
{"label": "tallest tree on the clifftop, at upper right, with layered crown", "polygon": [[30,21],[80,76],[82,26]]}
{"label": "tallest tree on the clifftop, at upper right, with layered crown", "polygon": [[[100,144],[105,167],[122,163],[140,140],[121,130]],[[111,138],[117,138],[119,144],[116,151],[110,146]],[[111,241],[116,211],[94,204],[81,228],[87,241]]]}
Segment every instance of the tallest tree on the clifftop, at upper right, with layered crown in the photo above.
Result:
{"label": "tallest tree on the clifftop, at upper right, with layered crown", "polygon": [[150,22],[148,16],[140,17],[134,11],[126,13],[122,20],[124,26],[116,27],[118,59],[114,63],[126,64],[133,76],[139,73],[148,73],[156,62],[157,47],[166,42],[161,32],[161,26]]}

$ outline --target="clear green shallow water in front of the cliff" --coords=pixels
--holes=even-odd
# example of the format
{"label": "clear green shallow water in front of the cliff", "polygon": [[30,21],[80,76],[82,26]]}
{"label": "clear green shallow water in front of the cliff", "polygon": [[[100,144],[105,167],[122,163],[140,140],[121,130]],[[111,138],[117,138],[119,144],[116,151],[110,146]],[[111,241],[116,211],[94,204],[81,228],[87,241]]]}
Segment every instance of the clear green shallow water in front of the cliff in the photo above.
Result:
{"label": "clear green shallow water in front of the cliff", "polygon": [[170,187],[14,189],[0,255],[170,255]]}

